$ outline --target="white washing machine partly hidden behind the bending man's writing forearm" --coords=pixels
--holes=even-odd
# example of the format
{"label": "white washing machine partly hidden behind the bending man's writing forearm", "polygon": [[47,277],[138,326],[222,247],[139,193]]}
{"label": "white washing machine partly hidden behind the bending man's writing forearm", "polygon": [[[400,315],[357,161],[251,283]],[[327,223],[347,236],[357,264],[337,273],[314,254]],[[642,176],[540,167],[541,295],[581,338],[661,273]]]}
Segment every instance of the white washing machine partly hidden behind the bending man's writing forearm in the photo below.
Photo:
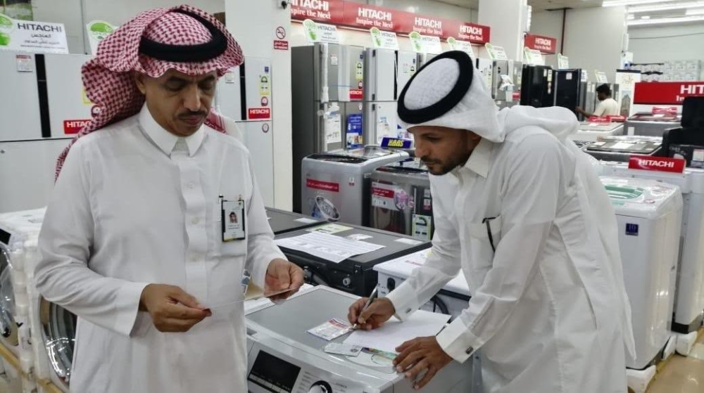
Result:
{"label": "white washing machine partly hidden behind the bending man's writing forearm", "polygon": [[[379,296],[389,295],[389,292],[406,281],[418,266],[425,264],[431,252],[431,249],[420,250],[374,266],[374,270],[379,273],[379,283],[377,284]],[[467,285],[464,274],[460,271],[421,309],[450,314],[452,319],[455,319],[467,308],[470,297],[469,285]]]}

